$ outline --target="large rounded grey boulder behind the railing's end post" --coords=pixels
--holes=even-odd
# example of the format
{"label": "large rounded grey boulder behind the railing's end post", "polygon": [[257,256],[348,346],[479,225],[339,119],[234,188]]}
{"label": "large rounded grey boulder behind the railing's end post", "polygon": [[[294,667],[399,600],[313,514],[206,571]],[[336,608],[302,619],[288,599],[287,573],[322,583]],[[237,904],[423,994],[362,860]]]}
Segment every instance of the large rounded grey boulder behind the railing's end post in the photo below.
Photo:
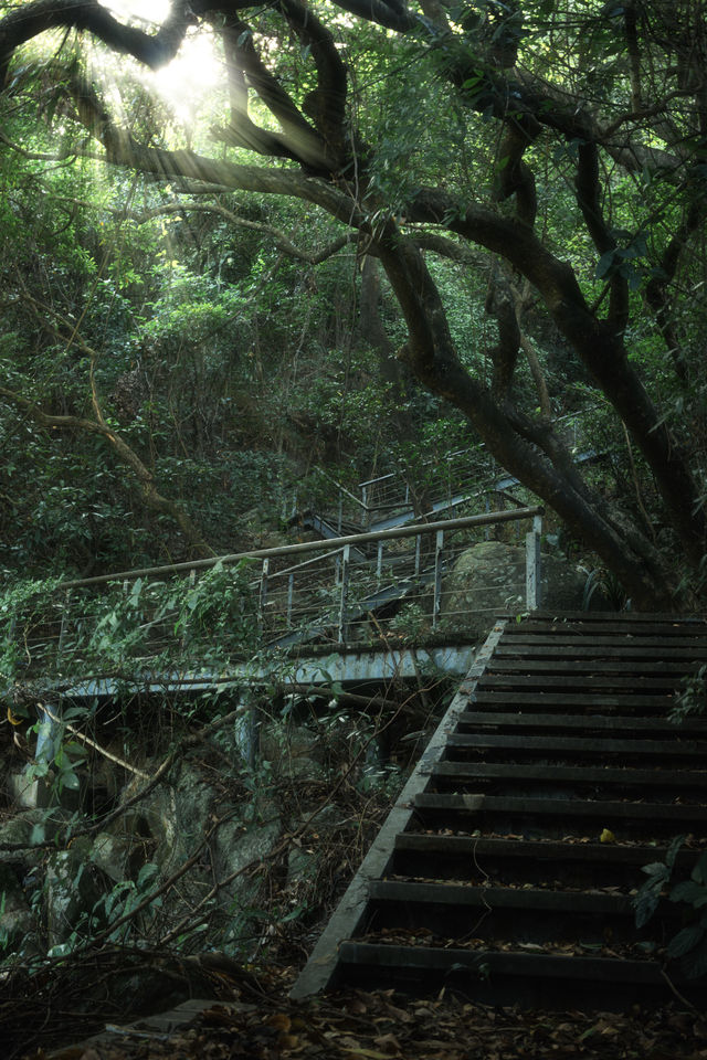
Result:
{"label": "large rounded grey boulder behind the railing's end post", "polygon": [[[587,574],[571,563],[542,554],[542,610],[581,611]],[[592,610],[606,607],[598,593]],[[484,637],[503,613],[526,610],[526,550],[483,541],[463,552],[444,580],[442,616],[447,629]],[[461,614],[460,614],[461,613]]]}

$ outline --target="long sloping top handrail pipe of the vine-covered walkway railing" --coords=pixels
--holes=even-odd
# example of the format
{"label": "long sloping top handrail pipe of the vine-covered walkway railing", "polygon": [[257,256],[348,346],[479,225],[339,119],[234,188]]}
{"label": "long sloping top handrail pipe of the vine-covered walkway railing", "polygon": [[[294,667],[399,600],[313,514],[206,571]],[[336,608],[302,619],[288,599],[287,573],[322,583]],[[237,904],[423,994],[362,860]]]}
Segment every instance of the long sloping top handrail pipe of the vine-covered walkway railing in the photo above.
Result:
{"label": "long sloping top handrail pipe of the vine-covered walkway railing", "polygon": [[108,582],[129,582],[138,577],[155,574],[188,574],[190,571],[210,570],[218,563],[224,565],[240,563],[241,560],[265,560],[274,555],[297,555],[303,552],[328,552],[341,549],[346,544],[363,544],[368,541],[386,541],[394,538],[413,538],[420,533],[433,533],[436,530],[462,530],[465,527],[490,527],[497,522],[514,522],[542,516],[545,508],[515,508],[511,511],[489,511],[481,516],[466,516],[463,519],[440,519],[436,522],[415,523],[413,527],[393,527],[391,530],[377,530],[369,533],[350,533],[345,538],[325,538],[320,541],[304,541],[299,544],[283,544],[276,549],[255,549],[252,552],[233,552],[215,555],[208,560],[191,560],[184,563],[170,563],[165,566],[143,566],[134,571],[116,571],[113,574],[96,574],[93,577],[61,582],[55,592],[67,589],[87,589],[91,585],[106,585]]}

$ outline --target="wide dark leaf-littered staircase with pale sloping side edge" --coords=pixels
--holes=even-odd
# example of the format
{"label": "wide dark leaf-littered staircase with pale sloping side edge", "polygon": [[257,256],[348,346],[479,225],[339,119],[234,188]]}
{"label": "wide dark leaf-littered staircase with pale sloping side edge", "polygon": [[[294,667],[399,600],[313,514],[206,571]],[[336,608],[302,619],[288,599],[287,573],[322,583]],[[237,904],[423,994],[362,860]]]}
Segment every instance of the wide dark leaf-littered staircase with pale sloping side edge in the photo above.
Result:
{"label": "wide dark leaf-littered staircase with pale sloping side edge", "polygon": [[668,720],[706,664],[703,621],[498,624],[294,996],[354,984],[545,1008],[674,992],[704,1005],[707,934],[701,977],[666,961],[692,907],[663,900],[637,930],[632,899],[672,837],[685,837],[676,879],[706,849],[707,720]]}

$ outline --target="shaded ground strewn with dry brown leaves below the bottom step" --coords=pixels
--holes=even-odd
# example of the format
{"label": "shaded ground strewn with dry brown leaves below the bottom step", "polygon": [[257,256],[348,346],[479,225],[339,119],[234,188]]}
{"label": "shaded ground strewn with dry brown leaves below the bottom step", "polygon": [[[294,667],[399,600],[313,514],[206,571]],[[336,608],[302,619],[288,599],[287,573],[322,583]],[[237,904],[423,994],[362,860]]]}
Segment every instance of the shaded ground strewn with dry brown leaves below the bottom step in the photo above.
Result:
{"label": "shaded ground strewn with dry brown leaves below the bottom step", "polygon": [[[616,1015],[494,1009],[444,992],[418,999],[349,989],[292,1001],[293,978],[292,971],[249,975],[229,985],[224,977],[221,1000],[188,1001],[129,1026],[108,1024],[81,1045],[13,1054],[32,1060],[707,1058],[707,1019],[680,1011],[677,1003]],[[91,1022],[76,1017],[74,1042]]]}

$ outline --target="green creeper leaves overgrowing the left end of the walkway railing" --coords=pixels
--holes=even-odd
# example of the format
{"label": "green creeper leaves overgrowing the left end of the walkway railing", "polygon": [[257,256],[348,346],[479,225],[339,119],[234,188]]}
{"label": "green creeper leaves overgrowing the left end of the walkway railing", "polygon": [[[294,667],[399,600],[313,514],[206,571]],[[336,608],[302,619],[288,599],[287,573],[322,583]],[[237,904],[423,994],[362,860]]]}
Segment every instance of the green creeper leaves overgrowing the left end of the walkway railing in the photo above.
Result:
{"label": "green creeper leaves overgrowing the left end of the walkway railing", "polygon": [[156,671],[217,669],[247,659],[258,619],[250,564],[217,563],[201,577],[135,579],[125,586],[60,592],[59,579],[18,582],[0,595],[0,679],[21,688],[28,674],[120,677],[141,658]]}

